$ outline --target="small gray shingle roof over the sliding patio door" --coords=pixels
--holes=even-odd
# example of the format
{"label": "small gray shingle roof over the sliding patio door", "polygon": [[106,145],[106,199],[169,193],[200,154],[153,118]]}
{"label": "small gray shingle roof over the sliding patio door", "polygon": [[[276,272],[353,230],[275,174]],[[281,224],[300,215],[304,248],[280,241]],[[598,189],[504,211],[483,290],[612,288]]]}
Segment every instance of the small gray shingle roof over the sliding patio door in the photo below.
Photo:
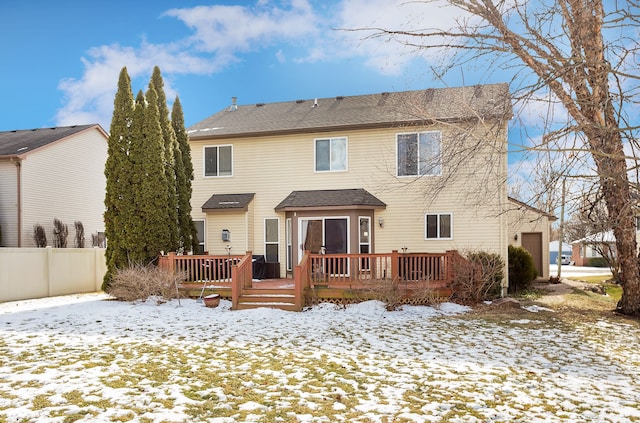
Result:
{"label": "small gray shingle roof over the sliding patio door", "polygon": [[336,189],[316,191],[293,191],[276,206],[276,210],[298,210],[301,208],[359,207],[367,209],[386,208],[387,205],[368,191]]}

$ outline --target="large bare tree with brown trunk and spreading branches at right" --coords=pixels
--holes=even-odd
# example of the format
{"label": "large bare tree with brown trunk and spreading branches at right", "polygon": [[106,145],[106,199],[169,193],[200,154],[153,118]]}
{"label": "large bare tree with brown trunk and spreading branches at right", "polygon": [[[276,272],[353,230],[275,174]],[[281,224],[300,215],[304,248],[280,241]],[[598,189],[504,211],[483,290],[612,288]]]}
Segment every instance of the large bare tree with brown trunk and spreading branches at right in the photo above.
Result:
{"label": "large bare tree with brown trunk and spreading branches at right", "polygon": [[[424,2],[425,7],[438,8],[443,3],[455,8],[458,16],[450,28],[354,30],[430,53],[457,52],[447,66],[437,69],[440,76],[491,57],[490,66],[512,72],[514,99],[543,98],[547,105],[559,105],[567,119],[550,122],[544,136],[530,140],[530,149],[554,150],[560,153],[558,160],[592,166],[623,272],[618,311],[640,316],[640,263],[631,195],[638,181],[629,178],[638,169],[633,152],[640,148],[637,126],[631,123],[637,117],[630,115],[640,94],[636,63],[640,5],[602,0]],[[632,153],[626,154],[625,148]]]}

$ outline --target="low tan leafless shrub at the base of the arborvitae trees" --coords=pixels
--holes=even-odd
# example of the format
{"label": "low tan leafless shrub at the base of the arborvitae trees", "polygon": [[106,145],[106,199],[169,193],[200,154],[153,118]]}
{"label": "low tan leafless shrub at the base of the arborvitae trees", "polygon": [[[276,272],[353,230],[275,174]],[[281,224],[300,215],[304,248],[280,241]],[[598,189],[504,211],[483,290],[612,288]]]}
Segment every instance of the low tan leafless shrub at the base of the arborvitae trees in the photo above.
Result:
{"label": "low tan leafless shrub at the base of the arborvitae trees", "polygon": [[121,301],[145,301],[178,298],[178,284],[185,281],[183,274],[173,273],[152,264],[133,265],[116,270],[108,294]]}

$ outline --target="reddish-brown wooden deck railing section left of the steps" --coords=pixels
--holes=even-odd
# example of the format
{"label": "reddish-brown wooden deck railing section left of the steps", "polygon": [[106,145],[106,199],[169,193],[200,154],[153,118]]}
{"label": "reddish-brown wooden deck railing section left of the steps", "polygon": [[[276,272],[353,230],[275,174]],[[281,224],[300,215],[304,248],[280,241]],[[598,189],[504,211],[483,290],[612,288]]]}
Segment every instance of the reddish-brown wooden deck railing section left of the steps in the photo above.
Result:
{"label": "reddish-brown wooden deck railing section left of the steps", "polygon": [[[244,256],[239,255],[177,255],[160,256],[159,266],[184,273],[190,282],[231,282],[231,269]],[[249,260],[251,263],[251,260]]]}

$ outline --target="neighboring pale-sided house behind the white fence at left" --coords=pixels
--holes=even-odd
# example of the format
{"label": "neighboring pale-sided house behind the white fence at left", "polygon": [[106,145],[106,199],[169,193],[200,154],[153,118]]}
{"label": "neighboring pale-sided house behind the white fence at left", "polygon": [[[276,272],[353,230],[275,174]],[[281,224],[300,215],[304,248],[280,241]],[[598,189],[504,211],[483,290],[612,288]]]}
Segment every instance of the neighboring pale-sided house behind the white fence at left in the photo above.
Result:
{"label": "neighboring pale-sided house behind the white fence at left", "polygon": [[0,132],[0,226],[3,247],[35,247],[33,227],[53,246],[53,220],[84,226],[85,246],[104,232],[107,134],[100,125]]}

